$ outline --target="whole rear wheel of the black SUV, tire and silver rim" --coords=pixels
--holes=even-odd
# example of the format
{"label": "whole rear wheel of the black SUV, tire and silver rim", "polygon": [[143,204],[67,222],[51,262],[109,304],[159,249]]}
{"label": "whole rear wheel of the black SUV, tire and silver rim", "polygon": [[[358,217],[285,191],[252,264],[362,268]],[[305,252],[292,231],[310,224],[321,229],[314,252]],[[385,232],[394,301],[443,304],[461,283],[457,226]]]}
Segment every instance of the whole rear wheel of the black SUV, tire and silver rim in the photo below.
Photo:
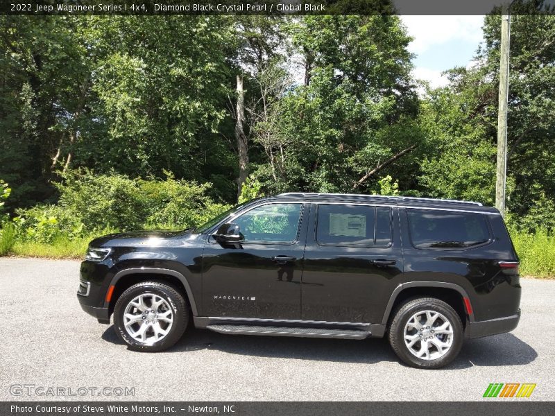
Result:
{"label": "whole rear wheel of the black SUV, tire and silver rim", "polygon": [[463,345],[463,324],[454,309],[434,297],[409,300],[398,309],[389,328],[397,356],[419,368],[451,363]]}

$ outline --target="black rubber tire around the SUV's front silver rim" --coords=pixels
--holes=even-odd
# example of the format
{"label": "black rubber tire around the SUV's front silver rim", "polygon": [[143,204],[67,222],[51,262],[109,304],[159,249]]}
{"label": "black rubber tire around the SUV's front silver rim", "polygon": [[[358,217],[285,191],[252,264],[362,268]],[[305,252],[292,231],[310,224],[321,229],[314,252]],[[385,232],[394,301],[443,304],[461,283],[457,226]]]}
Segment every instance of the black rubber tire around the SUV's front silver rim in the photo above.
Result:
{"label": "black rubber tire around the SUV's front silver rim", "polygon": [[[168,329],[167,334],[164,336],[160,336],[159,333],[155,333],[153,329],[153,325],[151,324],[150,329],[146,331],[146,335],[150,335],[150,340],[146,338],[144,342],[141,340],[137,340],[133,338],[132,334],[126,329],[125,324],[123,322],[123,315],[126,311],[128,305],[132,300],[135,300],[139,295],[146,295],[145,302],[147,302],[150,298],[151,302],[153,297],[149,297],[149,295],[155,295],[157,298],[161,298],[165,301],[165,304],[162,304],[160,308],[164,308],[163,311],[167,312],[171,310],[173,322],[171,322],[171,326],[169,326],[168,322],[160,320],[160,328],[161,329]],[[133,306],[130,306],[133,308]],[[152,307],[152,303],[150,306]],[[142,314],[140,309],[131,309],[134,313],[138,313],[139,315]],[[153,310],[153,309],[151,309]],[[157,310],[162,310],[158,309]],[[157,315],[154,315],[153,312],[150,316],[152,318],[157,318]],[[148,319],[148,313],[145,313],[144,316]],[[147,322],[158,322],[156,321],[147,321]],[[183,295],[173,286],[169,286],[168,284],[160,283],[158,281],[142,281],[141,283],[135,284],[128,288],[125,292],[121,294],[119,299],[116,302],[116,306],[114,308],[114,330],[117,333],[117,336],[128,345],[129,349],[133,349],[134,351],[142,351],[142,352],[157,352],[163,351],[164,349],[168,349],[172,347],[178,340],[182,337],[185,329],[187,329],[187,324],[189,322],[189,304]],[[162,328],[162,325],[167,325],[167,327]],[[130,331],[133,331],[133,328],[140,329],[142,327],[142,322],[139,321],[137,324],[131,326]],[[148,325],[147,325],[148,327]],[[160,337],[159,340],[155,340],[155,338]]]}

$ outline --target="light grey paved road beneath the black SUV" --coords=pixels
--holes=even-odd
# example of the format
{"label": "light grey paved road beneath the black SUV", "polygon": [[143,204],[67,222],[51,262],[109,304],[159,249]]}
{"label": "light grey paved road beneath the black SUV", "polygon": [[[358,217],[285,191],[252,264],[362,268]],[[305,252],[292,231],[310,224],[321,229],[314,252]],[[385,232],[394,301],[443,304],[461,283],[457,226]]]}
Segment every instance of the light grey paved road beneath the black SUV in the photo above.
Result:
{"label": "light grey paved road beneath the black SUV", "polygon": [[[130,352],[76,300],[77,261],[0,259],[0,400],[10,385],[131,387],[121,399],[480,400],[488,383],[537,383],[555,399],[555,281],[522,279],[513,333],[469,340],[443,370],[401,365],[382,339],[318,340],[188,331],[169,352]],[[24,390],[25,391],[25,390]],[[69,399],[107,399],[87,393]],[[114,399],[109,398],[109,399]]]}

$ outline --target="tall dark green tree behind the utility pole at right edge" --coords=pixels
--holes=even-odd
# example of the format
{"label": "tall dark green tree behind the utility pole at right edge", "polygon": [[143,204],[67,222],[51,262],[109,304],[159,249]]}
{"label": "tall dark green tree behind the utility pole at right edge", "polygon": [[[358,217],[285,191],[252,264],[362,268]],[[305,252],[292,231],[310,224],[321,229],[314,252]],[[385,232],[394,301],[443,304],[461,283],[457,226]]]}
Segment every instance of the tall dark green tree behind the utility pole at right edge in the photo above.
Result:
{"label": "tall dark green tree behind the utility pole at right edge", "polygon": [[[555,16],[540,11],[544,3],[513,4],[507,137],[507,173],[514,182],[507,207],[516,218],[533,215],[538,225],[544,220],[547,225],[552,215],[549,207],[555,200]],[[484,62],[480,76],[492,80],[494,91],[499,72],[499,26],[499,16],[486,17],[486,42],[478,54]],[[484,103],[486,120],[497,118],[495,98]],[[538,206],[539,200],[545,203]]]}

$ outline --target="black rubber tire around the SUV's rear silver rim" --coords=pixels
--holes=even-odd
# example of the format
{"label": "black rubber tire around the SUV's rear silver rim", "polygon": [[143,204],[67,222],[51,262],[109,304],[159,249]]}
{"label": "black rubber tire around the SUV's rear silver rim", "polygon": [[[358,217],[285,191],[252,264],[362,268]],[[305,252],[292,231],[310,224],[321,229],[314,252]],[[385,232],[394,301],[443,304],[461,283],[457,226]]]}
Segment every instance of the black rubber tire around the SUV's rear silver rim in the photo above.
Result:
{"label": "black rubber tire around the SUV's rear silver rim", "polygon": [[[428,330],[427,327],[424,326],[422,329],[420,329],[421,332],[419,332],[419,330],[414,327],[407,327],[407,323],[409,322],[409,320],[411,320],[413,315],[418,312],[424,311],[435,311],[441,313],[441,315],[443,315],[443,318],[446,318],[450,322],[452,328],[452,338],[447,338],[448,335],[443,333],[436,333],[438,332],[437,330],[434,331],[434,333],[431,333],[431,331],[434,330],[434,325],[436,324],[435,322],[434,325],[432,325],[431,329]],[[422,317],[424,316],[425,315],[422,315]],[[445,323],[443,318],[438,318],[439,323]],[[422,339],[422,336],[431,337],[427,339],[433,339],[434,341],[436,340],[436,338],[433,337],[438,337],[438,340],[440,341],[450,339],[452,340],[452,343],[447,351],[444,353],[444,355],[440,356],[440,348],[436,347],[436,345],[433,344],[433,341],[431,341],[430,343],[426,344],[429,346],[429,348],[427,348],[429,351],[429,358],[418,358],[418,356],[414,355],[411,352],[411,349],[409,349],[409,347],[407,347],[406,343],[404,342],[405,327],[407,327],[407,331],[409,331],[408,328],[410,328],[411,331],[411,333],[407,332],[407,336],[413,336],[413,334],[416,334],[419,337],[419,339],[414,344],[415,349],[418,348],[420,350],[422,345],[422,341],[420,339]],[[410,365],[411,367],[430,369],[440,368],[451,363],[454,358],[459,355],[461,347],[463,346],[463,332],[464,331],[461,318],[449,304],[443,302],[443,300],[438,300],[434,297],[420,297],[418,299],[407,300],[407,302],[402,304],[397,309],[389,327],[389,343],[391,344],[391,348],[393,348],[393,352],[395,352],[395,354],[397,354],[397,356],[404,363]],[[433,355],[438,356],[438,358],[433,358]]]}

